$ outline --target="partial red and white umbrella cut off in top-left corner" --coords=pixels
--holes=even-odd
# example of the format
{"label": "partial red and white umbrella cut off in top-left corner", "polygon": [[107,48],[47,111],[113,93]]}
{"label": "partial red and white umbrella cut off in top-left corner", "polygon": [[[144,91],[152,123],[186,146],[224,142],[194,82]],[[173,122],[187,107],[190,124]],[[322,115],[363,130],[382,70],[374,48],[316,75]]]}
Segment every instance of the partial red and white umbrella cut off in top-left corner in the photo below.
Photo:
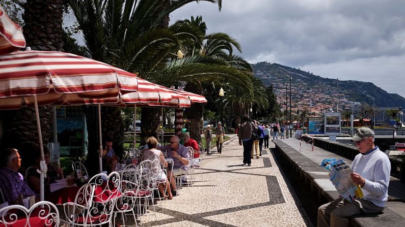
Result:
{"label": "partial red and white umbrella cut off in top-left corner", "polygon": [[14,23],[0,5],[0,54],[11,53],[25,47],[20,25]]}

